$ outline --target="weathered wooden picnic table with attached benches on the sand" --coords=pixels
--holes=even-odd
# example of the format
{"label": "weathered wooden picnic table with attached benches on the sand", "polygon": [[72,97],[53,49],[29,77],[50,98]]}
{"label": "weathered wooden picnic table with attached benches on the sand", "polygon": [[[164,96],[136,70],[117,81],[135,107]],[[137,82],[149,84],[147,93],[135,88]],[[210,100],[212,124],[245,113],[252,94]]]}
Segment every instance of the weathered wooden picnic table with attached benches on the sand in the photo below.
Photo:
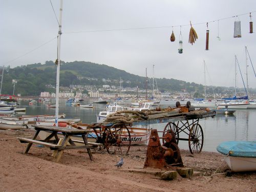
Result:
{"label": "weathered wooden picnic table with attached benches on the sand", "polygon": [[[33,143],[44,145],[47,147],[50,147],[51,150],[54,150],[53,152],[53,161],[58,162],[61,158],[63,151],[67,149],[77,149],[77,148],[86,148],[87,152],[89,154],[89,157],[91,160],[93,160],[91,148],[97,148],[97,143],[95,144],[88,144],[87,141],[87,134],[92,132],[91,130],[78,130],[74,128],[68,128],[68,127],[57,127],[57,126],[38,126],[35,125],[35,135],[32,139],[29,138],[17,138],[22,143],[28,143],[25,154],[29,152],[30,147]],[[37,136],[40,131],[47,131],[51,134],[45,138],[44,140],[37,140]],[[61,132],[63,134],[63,138],[59,139],[57,136],[57,133]],[[82,146],[76,146],[75,142],[71,139],[71,136],[80,135],[83,139],[84,145]],[[50,142],[50,140],[55,137],[55,140],[57,144],[54,144]],[[70,143],[70,145],[68,145]]]}

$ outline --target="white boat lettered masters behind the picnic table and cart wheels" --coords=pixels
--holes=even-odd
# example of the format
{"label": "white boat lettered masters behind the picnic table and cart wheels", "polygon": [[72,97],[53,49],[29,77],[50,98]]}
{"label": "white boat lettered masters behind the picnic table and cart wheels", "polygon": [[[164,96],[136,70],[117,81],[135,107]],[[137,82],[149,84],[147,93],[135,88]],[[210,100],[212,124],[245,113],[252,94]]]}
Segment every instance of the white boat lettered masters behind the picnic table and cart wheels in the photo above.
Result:
{"label": "white boat lettered masters behind the picnic table and cart wheels", "polygon": [[[84,123],[83,123],[84,124]],[[88,125],[88,124],[87,124]],[[87,127],[84,127],[87,129]],[[146,144],[148,139],[150,138],[150,129],[146,128],[137,128],[137,127],[127,127],[129,129],[130,135],[131,135],[131,145],[143,145]],[[51,133],[47,131],[40,131],[38,136],[41,138],[41,140],[46,139]],[[99,134],[99,133],[97,133]],[[62,133],[57,134],[59,138],[63,138]],[[54,138],[52,138],[53,140]],[[77,136],[71,136],[71,139],[77,144],[80,145],[80,142],[82,141],[82,137],[80,135]],[[97,135],[95,132],[88,134],[88,142],[96,142]],[[129,144],[130,141],[127,140],[126,132],[123,132],[123,135],[121,135],[122,143],[123,144]],[[77,141],[77,142],[76,142]]]}

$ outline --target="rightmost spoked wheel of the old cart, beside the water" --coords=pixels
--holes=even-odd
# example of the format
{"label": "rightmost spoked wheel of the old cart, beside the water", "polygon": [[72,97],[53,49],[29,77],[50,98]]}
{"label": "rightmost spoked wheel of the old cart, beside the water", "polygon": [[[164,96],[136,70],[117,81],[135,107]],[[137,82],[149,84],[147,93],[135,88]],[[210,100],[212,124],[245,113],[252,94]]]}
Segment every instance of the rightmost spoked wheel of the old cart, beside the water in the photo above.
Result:
{"label": "rightmost spoked wheel of the old cart, beside the water", "polygon": [[203,148],[204,134],[203,129],[200,124],[194,124],[188,136],[188,146],[191,154],[200,153]]}

